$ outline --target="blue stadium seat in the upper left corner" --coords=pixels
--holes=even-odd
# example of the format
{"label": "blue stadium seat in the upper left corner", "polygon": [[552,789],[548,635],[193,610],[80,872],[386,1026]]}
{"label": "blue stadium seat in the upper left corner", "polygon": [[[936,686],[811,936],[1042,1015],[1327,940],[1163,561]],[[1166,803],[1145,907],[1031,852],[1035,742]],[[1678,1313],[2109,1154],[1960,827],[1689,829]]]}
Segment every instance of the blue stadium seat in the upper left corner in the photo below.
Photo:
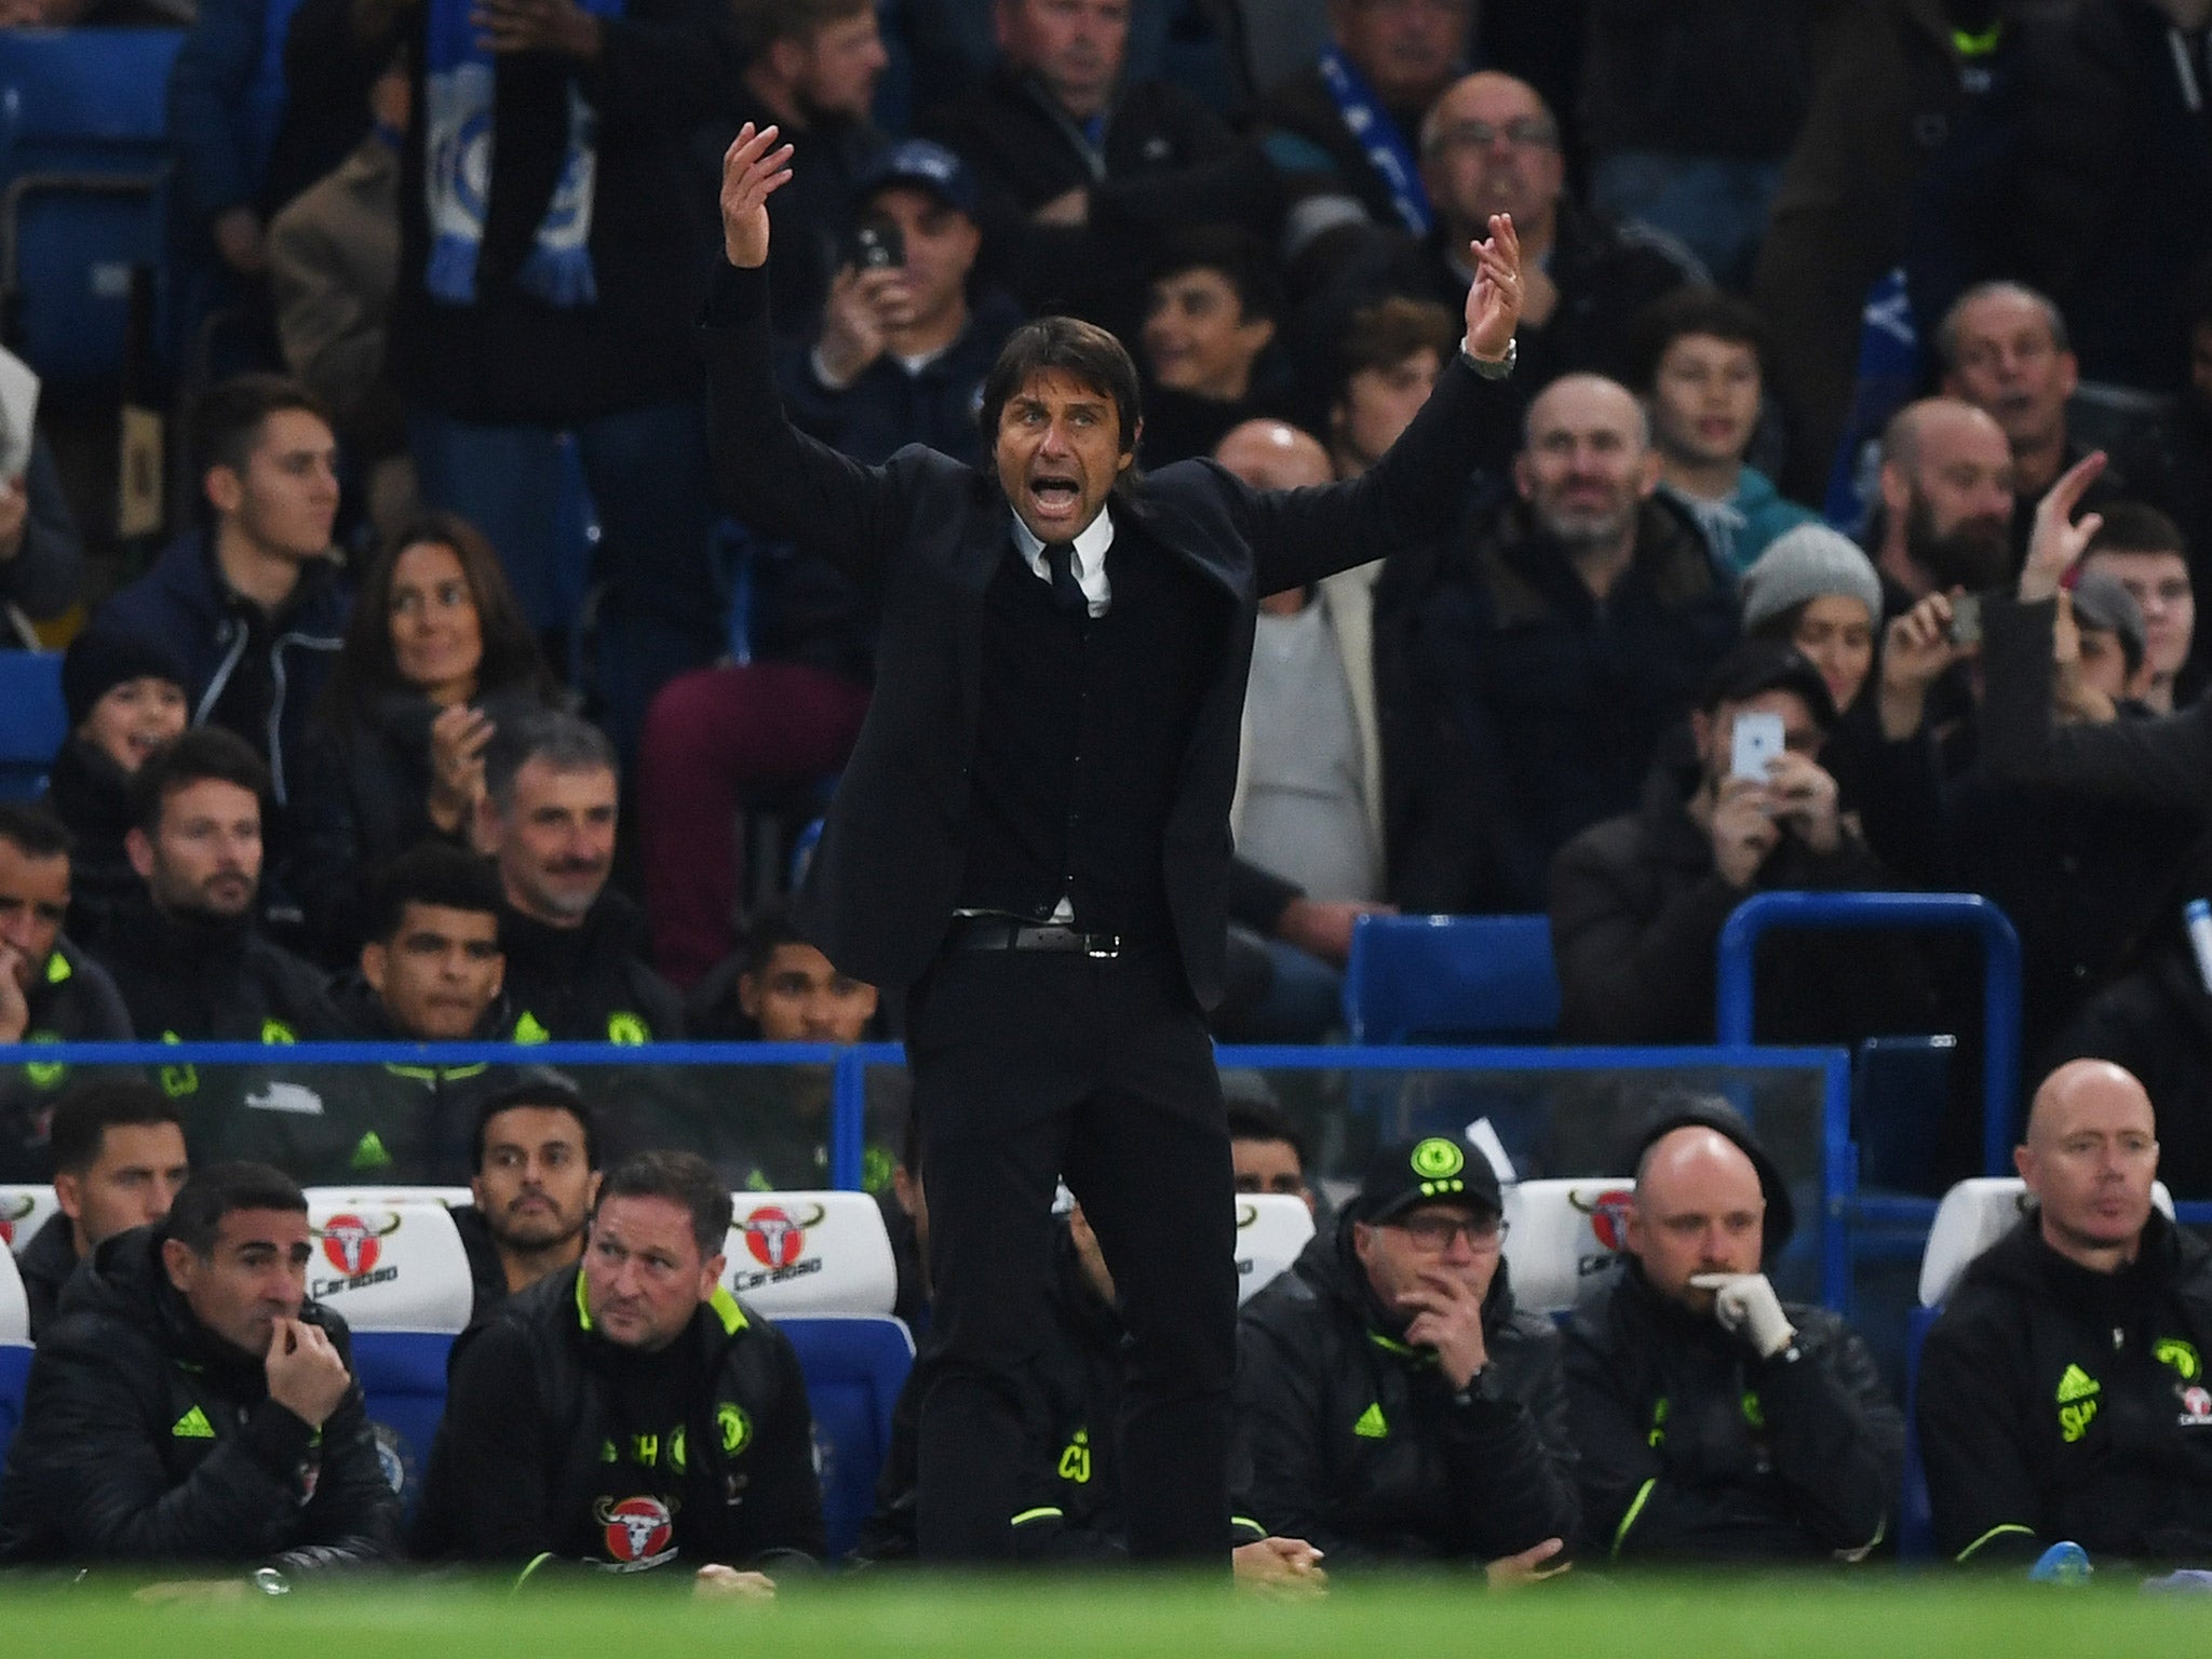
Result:
{"label": "blue stadium seat in the upper left corner", "polygon": [[164,265],[168,73],[179,29],[0,33],[0,305],[9,345],[66,398],[117,389],[133,288]]}

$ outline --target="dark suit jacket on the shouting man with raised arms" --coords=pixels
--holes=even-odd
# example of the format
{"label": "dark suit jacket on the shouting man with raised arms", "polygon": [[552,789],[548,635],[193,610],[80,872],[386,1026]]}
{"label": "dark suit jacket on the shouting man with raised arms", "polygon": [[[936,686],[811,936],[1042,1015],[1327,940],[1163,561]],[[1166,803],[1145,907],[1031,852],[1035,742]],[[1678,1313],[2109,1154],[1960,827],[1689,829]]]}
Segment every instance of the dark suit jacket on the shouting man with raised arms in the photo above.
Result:
{"label": "dark suit jacket on the shouting man with raised arms", "polygon": [[[995,473],[933,449],[863,467],[799,434],[776,400],[765,274],[726,268],[706,325],[728,507],[832,560],[883,608],[876,697],[796,918],[843,971],[905,987],[942,947],[964,869],[984,591],[1006,557],[1013,509]],[[1259,595],[1440,535],[1493,396],[1453,363],[1389,456],[1343,484],[1250,489],[1190,460],[1115,493],[1119,522],[1137,520],[1230,597],[1161,847],[1175,942],[1201,1006],[1221,1000],[1230,796]]]}

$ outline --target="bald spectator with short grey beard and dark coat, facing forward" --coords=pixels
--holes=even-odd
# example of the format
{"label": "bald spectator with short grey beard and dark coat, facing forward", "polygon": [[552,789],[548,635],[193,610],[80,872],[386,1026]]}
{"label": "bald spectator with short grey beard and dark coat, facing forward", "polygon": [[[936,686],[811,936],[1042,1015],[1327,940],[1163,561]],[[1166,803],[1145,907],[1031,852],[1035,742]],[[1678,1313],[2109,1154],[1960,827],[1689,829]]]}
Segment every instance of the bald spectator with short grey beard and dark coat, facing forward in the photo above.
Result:
{"label": "bald spectator with short grey beard and dark coat, facing forward", "polygon": [[[1652,498],[1659,458],[1624,387],[1590,374],[1546,387],[1513,482],[1520,500],[1473,529],[1416,624],[1420,695],[1486,823],[1425,836],[1427,867],[1396,878],[1407,909],[1540,909],[1553,854],[1635,807],[1736,633],[1697,524]],[[1453,796],[1436,799],[1431,812]]]}

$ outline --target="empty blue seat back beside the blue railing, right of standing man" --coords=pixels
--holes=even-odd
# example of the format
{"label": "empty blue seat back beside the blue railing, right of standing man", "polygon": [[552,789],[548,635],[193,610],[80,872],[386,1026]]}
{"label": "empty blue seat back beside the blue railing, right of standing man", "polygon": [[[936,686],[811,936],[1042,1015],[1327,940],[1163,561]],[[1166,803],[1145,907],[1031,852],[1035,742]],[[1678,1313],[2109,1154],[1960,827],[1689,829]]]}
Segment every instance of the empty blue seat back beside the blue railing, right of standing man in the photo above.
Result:
{"label": "empty blue seat back beside the blue railing, right of standing man", "polygon": [[1363,916],[1345,967],[1345,1026],[1356,1044],[1551,1042],[1551,920]]}

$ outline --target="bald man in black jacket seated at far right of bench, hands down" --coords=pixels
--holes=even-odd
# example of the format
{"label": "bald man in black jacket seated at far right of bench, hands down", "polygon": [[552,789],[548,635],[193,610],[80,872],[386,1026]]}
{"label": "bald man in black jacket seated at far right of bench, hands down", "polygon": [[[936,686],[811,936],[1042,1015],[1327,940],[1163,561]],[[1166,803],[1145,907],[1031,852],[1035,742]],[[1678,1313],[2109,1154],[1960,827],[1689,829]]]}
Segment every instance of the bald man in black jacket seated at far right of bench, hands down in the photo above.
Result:
{"label": "bald man in black jacket seated at far right of bench, hands down", "polygon": [[2108,1060],[2035,1091],[2028,1210],[1966,1267],[1920,1356],[1936,1546],[2024,1564],[2212,1566],[2212,1248],[2150,1201],[2157,1119]]}

